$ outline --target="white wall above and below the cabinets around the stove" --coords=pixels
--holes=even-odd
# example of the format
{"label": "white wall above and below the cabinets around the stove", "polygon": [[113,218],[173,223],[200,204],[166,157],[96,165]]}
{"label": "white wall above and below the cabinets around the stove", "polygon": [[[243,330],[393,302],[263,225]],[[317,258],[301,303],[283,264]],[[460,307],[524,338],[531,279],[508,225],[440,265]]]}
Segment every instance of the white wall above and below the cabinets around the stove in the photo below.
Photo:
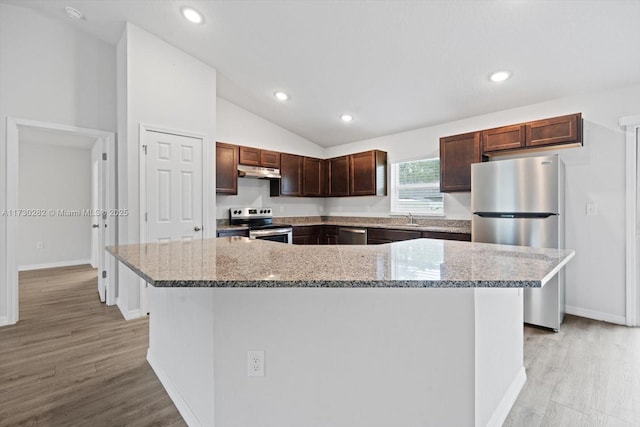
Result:
{"label": "white wall above and below the cabinets around the stove", "polygon": [[[275,107],[283,107],[276,105]],[[274,108],[275,108],[274,107]],[[325,148],[277,126],[262,117],[218,98],[216,140],[266,150],[325,157]],[[238,195],[216,196],[216,217],[228,218],[234,206],[270,206],[275,216],[314,216],[324,214],[324,200],[312,197],[271,197],[269,182],[251,178],[238,179]]]}

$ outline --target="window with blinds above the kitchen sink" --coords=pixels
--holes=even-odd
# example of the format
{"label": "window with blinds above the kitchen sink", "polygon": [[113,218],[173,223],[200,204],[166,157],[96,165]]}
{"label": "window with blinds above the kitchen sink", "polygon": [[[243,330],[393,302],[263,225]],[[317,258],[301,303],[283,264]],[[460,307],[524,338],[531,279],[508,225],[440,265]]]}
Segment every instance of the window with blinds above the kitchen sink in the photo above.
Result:
{"label": "window with blinds above the kitchen sink", "polygon": [[444,214],[440,159],[391,164],[391,212]]}

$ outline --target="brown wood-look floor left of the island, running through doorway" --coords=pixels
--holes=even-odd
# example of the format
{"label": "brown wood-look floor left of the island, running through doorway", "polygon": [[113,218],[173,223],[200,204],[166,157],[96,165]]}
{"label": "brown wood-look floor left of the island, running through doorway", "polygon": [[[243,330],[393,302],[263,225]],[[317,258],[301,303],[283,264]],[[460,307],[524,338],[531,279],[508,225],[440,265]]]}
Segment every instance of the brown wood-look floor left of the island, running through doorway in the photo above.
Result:
{"label": "brown wood-look floor left of the island, running through doorway", "polygon": [[146,362],[148,320],[100,303],[90,266],[20,273],[0,328],[0,426],[184,426]]}

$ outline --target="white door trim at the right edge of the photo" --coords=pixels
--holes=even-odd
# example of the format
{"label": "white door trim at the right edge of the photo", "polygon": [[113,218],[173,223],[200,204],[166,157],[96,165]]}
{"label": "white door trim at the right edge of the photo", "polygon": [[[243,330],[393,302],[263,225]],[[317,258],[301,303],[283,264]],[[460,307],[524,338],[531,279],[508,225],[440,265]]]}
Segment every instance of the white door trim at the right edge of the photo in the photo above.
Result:
{"label": "white door trim at the right edge of the photo", "polygon": [[[626,133],[626,307],[627,326],[638,325],[638,129],[640,115],[622,117],[618,121]],[[617,322],[616,322],[617,323]]]}

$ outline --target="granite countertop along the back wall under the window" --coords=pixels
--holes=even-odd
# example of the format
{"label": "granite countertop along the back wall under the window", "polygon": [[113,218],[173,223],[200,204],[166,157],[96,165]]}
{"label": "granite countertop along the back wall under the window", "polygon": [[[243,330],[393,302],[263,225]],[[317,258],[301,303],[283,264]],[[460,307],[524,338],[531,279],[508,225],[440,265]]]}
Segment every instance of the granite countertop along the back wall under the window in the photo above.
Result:
{"label": "granite countertop along the back wall under the window", "polygon": [[[471,234],[471,221],[443,218],[416,217],[415,225],[408,225],[406,217],[356,217],[356,216],[310,216],[275,217],[273,222],[293,226],[337,225],[342,227],[388,228],[394,230],[435,231],[441,233]],[[242,230],[243,226],[229,225],[226,219],[217,220],[218,230]]]}

